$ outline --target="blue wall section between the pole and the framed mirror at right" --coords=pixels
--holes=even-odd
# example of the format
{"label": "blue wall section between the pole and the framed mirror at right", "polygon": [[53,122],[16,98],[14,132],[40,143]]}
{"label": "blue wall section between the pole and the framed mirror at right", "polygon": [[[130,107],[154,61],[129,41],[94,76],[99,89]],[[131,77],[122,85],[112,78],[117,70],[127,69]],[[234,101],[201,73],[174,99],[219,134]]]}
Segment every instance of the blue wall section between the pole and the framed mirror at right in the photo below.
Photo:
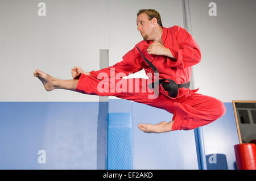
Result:
{"label": "blue wall section between the pole and the framed mirror at right", "polygon": [[[208,169],[236,169],[234,145],[239,144],[232,103],[224,103],[226,113],[203,127],[205,156]],[[214,163],[213,154],[216,154]],[[212,163],[209,162],[209,159]]]}

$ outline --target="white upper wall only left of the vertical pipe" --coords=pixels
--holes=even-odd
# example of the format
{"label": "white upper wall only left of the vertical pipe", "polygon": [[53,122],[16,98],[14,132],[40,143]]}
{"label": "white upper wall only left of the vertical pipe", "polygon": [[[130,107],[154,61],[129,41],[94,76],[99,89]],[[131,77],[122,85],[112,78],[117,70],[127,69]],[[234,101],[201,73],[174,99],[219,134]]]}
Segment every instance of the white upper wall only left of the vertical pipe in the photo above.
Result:
{"label": "white upper wall only left of the vertical pipe", "polygon": [[[38,3],[46,16],[38,16]],[[181,1],[0,1],[1,102],[90,102],[98,96],[66,90],[47,92],[33,76],[36,68],[72,79],[73,66],[99,69],[99,50],[109,49],[109,65],[142,40],[139,9],[156,9],[163,25],[183,25]],[[114,97],[110,97],[114,98]]]}

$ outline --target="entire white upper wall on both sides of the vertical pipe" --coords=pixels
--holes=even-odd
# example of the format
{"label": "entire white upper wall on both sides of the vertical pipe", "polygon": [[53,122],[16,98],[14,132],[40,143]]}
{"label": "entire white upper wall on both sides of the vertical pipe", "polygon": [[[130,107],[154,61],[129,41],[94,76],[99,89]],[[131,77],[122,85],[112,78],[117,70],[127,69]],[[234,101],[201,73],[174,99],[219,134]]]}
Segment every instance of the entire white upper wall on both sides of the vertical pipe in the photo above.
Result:
{"label": "entire white upper wall on both sides of the vertical pipe", "polygon": [[[98,101],[98,96],[66,90],[47,92],[33,76],[36,68],[71,79],[73,66],[98,70],[99,49],[109,49],[109,65],[142,40],[136,26],[139,9],[156,9],[165,27],[183,26],[181,1],[0,1],[0,101]],[[255,1],[189,1],[193,37],[202,52],[195,66],[199,93],[223,102],[255,100]],[[110,96],[110,98],[114,98]]]}

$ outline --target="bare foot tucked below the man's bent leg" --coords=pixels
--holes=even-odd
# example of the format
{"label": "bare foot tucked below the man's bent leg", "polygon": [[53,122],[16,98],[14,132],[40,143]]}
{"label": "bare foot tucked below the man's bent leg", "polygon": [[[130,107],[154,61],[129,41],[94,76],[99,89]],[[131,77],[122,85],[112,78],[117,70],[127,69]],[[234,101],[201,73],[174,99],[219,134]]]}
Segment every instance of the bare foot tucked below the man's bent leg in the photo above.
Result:
{"label": "bare foot tucked below the man's bent leg", "polygon": [[162,121],[158,124],[143,124],[140,123],[138,128],[145,133],[163,133],[163,132],[170,132],[172,128],[172,124],[174,121],[167,123],[166,121]]}

